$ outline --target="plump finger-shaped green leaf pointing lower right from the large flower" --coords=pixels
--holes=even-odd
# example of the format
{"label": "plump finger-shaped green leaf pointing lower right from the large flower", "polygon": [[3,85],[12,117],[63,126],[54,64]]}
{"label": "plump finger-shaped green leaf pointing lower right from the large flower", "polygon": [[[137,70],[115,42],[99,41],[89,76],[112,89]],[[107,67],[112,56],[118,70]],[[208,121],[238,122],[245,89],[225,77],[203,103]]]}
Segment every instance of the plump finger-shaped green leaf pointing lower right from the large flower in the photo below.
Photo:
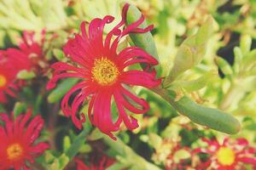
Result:
{"label": "plump finger-shaped green leaf pointing lower right from the large flower", "polygon": [[181,115],[188,116],[192,122],[210,127],[219,132],[236,134],[241,129],[240,123],[230,114],[218,109],[198,105],[187,96],[172,103],[172,105]]}

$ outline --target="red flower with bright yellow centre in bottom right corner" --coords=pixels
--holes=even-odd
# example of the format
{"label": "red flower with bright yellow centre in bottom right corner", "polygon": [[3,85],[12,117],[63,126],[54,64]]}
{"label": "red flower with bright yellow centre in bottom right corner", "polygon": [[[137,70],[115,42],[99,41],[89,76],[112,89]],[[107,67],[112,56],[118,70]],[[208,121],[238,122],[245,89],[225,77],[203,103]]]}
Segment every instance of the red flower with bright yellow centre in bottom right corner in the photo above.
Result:
{"label": "red flower with bright yellow centre in bottom right corner", "polygon": [[245,169],[245,164],[256,165],[256,149],[248,145],[247,139],[225,138],[223,144],[217,139],[202,139],[207,148],[198,148],[193,153],[206,153],[210,157],[205,166],[218,170]]}

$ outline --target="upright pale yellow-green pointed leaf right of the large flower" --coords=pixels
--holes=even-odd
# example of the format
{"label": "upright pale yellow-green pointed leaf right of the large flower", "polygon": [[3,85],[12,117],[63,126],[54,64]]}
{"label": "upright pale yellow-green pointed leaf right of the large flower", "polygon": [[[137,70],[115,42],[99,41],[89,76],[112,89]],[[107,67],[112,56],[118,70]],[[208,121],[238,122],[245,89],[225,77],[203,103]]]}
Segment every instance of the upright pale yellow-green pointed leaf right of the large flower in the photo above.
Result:
{"label": "upright pale yellow-green pointed leaf right of the large flower", "polygon": [[164,82],[165,87],[168,87],[181,73],[201,62],[207,50],[207,42],[212,33],[213,19],[212,17],[208,17],[207,21],[195,35],[188,37],[178,48],[172,70]]}

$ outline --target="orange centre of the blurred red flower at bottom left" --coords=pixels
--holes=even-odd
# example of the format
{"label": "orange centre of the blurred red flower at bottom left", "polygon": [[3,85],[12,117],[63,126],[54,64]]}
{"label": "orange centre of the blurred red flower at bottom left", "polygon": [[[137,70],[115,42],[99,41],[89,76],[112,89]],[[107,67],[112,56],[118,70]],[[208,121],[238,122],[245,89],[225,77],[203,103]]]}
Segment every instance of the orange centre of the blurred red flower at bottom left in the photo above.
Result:
{"label": "orange centre of the blurred red flower at bottom left", "polygon": [[16,161],[20,159],[20,156],[23,155],[23,148],[20,144],[10,144],[7,148],[7,156],[11,161]]}

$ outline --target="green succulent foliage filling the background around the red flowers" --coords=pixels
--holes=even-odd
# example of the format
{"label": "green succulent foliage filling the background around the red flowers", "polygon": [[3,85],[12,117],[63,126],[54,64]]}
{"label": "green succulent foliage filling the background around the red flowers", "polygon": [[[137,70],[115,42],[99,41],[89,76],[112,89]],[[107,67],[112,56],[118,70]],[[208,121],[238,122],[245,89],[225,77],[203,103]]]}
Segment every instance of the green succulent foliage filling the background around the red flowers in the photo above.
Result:
{"label": "green succulent foliage filling the background around the red flowers", "polygon": [[[232,122],[231,116],[241,123],[241,131],[230,138],[243,137],[256,146],[256,1],[126,2],[136,5],[148,24],[154,24],[151,33],[157,53],[151,53],[159,57],[160,66],[156,69],[160,77],[166,78],[163,83],[165,93],[169,93],[166,98],[173,93],[175,96],[168,101],[165,95],[157,95],[159,91],[155,94],[144,88],[133,88],[136,94],[150,103],[151,110],[144,116],[137,116],[140,124],[137,130],[128,132],[124,128],[117,134],[119,140],[113,142],[91,127],[89,121],[79,132],[62,115],[60,100],[78,80],[68,79],[48,92],[45,84],[50,71],[46,77],[40,78],[20,75],[21,79],[28,79],[29,86],[20,92],[19,100],[12,100],[8,105],[1,105],[1,108],[3,111],[14,108],[15,115],[19,115],[26,107],[32,107],[34,114],[44,116],[46,127],[42,139],[49,141],[51,150],[38,158],[33,168],[62,169],[67,166],[67,169],[73,169],[74,156],[90,162],[91,155],[106,151],[117,159],[109,170],[163,169],[165,150],[168,150],[164,148],[163,141],[170,140],[173,144],[179,143],[193,149],[201,145],[201,137],[224,139],[226,133],[237,131],[234,127],[236,122]],[[16,47],[17,37],[22,31],[37,31],[40,34],[46,29],[46,37],[55,33],[59,35],[53,42],[45,44],[46,58],[49,62],[66,61],[61,48],[70,32],[78,32],[83,20],[90,22],[107,14],[115,16],[113,25],[116,24],[120,20],[121,3],[113,0],[1,0],[0,48]],[[111,28],[108,26],[106,33]],[[128,37],[122,45],[125,47],[131,41],[136,45],[144,43],[137,42],[136,38]],[[152,46],[149,50],[152,50]],[[36,85],[38,83],[40,86]],[[207,107],[220,110],[219,116],[223,116],[223,112],[229,115],[224,119],[216,118],[216,111]],[[83,110],[87,111],[87,105]],[[116,110],[113,108],[113,111]],[[223,122],[219,122],[221,120]],[[175,160],[178,162],[189,156],[188,152],[182,150]]]}

